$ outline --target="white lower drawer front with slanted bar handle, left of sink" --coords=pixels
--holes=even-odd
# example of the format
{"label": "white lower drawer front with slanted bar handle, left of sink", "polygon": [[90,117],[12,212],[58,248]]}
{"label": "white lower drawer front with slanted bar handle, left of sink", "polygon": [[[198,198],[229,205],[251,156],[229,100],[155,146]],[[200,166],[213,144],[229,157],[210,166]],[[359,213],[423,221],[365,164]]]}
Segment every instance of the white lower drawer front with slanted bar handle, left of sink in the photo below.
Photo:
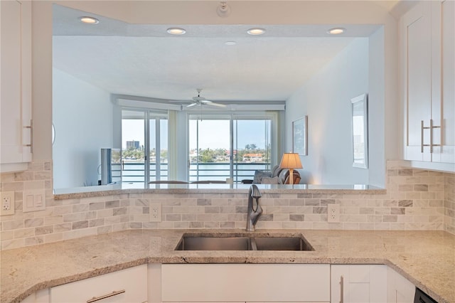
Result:
{"label": "white lower drawer front with slanted bar handle, left of sink", "polygon": [[[105,299],[101,299],[105,297]],[[98,299],[98,300],[97,300]],[[50,288],[51,303],[147,301],[147,265]]]}

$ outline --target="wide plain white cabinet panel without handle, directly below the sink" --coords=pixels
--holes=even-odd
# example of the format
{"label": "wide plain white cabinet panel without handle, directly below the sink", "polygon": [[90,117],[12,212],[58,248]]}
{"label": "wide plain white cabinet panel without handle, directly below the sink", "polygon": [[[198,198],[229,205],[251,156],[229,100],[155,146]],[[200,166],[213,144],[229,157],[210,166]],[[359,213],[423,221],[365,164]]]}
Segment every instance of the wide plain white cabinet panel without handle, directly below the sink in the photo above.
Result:
{"label": "wide plain white cabinet panel without handle, directly below the sink", "polygon": [[161,302],[330,302],[330,265],[164,264]]}

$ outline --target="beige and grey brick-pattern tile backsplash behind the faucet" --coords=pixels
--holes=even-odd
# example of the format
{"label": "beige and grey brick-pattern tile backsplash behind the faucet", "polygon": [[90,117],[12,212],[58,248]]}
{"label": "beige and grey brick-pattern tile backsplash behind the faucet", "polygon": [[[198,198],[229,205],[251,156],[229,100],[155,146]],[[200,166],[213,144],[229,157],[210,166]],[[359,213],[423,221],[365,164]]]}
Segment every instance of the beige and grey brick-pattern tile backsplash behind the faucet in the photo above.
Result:
{"label": "beige and grey brick-pattern tile backsplash behind the faucet", "polygon": [[[16,212],[0,217],[1,250],[117,230],[245,228],[245,193],[129,193],[54,200],[51,161],[1,174],[1,191],[15,192]],[[44,211],[23,213],[23,191],[45,189]],[[161,203],[162,222],[149,222]],[[387,167],[385,194],[263,194],[261,228],[446,230],[455,234],[455,174]],[[327,205],[340,205],[340,223],[327,222]]]}

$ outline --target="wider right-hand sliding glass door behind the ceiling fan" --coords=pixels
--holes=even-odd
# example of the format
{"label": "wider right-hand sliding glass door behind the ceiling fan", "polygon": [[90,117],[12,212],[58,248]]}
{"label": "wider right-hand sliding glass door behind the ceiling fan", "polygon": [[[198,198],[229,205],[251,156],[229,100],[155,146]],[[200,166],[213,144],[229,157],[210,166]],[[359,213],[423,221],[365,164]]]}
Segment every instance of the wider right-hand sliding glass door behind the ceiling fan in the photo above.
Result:
{"label": "wider right-hand sliding glass door behind the ceiling fan", "polygon": [[189,181],[234,182],[270,169],[276,115],[188,115]]}

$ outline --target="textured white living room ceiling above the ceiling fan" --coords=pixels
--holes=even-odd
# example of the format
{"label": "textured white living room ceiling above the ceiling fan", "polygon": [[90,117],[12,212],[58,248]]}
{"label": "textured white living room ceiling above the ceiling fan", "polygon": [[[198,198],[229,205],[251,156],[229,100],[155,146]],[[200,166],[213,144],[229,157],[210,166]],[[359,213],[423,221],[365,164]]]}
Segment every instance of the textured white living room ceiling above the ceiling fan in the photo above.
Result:
{"label": "textured white living room ceiling above the ceiling fan", "polygon": [[[96,26],[77,21],[82,12],[55,6],[53,65],[108,92],[191,100],[203,88],[208,100],[287,100],[353,41],[378,26],[348,26],[349,37],[326,36],[327,26],[132,25],[108,18]],[[235,41],[235,46],[225,42]]]}

